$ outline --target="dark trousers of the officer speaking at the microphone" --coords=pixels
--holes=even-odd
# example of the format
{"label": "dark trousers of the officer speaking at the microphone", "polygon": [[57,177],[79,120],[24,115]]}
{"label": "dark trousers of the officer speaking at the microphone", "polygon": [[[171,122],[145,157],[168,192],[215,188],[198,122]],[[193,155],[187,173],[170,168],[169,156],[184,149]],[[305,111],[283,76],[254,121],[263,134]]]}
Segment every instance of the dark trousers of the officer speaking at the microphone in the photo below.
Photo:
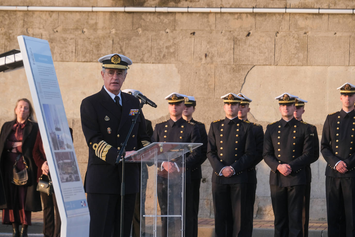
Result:
{"label": "dark trousers of the officer speaking at the microphone", "polygon": [[[136,194],[126,194],[124,200],[123,236],[131,234]],[[90,237],[120,236],[121,195],[87,194],[90,211]]]}

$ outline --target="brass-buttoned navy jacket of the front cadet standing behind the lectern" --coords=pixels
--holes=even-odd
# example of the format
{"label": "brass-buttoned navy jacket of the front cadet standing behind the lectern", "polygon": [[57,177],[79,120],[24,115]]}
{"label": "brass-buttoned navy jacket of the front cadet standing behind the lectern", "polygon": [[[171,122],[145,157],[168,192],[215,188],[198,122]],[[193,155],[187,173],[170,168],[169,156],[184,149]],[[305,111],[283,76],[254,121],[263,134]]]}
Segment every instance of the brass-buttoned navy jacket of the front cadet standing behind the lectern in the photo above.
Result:
{"label": "brass-buttoned navy jacket of the front cadet standing behind the lectern", "polygon": [[[152,140],[156,142],[188,142],[188,143],[200,143],[200,132],[198,126],[195,123],[187,122],[183,118],[178,121],[169,119],[163,123],[155,125]],[[197,165],[200,162],[201,149],[197,147],[191,153],[186,153],[186,183],[191,182],[191,167]],[[181,165],[181,157],[177,157],[171,162],[176,162],[178,166]]]}

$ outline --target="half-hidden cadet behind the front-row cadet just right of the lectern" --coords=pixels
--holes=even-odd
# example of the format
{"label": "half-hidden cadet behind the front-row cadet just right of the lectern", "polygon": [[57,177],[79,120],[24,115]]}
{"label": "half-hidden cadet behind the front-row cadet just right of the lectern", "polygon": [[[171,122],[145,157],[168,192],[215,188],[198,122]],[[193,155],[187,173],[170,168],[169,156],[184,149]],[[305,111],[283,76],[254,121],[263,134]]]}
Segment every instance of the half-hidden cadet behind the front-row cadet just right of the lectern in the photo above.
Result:
{"label": "half-hidden cadet behind the front-row cadet just right of the lectern", "polygon": [[[239,93],[238,96],[244,97],[240,101],[240,107],[238,111],[238,118],[241,120],[248,121],[248,113],[250,111],[250,102],[252,101],[244,94]],[[255,203],[255,192],[256,192],[256,170],[255,166],[263,160],[263,144],[264,144],[264,130],[260,124],[252,123],[253,135],[255,138],[255,160],[247,168],[248,183],[246,186],[246,199],[245,199],[245,218],[242,220],[240,235],[241,236],[252,236],[253,232],[253,216],[254,216],[254,203]]]}

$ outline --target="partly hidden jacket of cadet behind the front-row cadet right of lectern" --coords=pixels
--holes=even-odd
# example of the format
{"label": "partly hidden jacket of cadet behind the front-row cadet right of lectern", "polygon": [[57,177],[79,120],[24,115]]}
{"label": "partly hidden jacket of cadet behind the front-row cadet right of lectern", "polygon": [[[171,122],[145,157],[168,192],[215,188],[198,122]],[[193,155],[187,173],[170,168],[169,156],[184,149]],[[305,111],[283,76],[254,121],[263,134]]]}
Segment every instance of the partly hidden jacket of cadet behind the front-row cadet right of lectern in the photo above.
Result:
{"label": "partly hidden jacket of cadet behind the front-row cadet right of lectern", "polygon": [[263,160],[263,145],[264,145],[264,130],[263,126],[257,123],[252,123],[253,135],[255,138],[255,159],[248,167],[248,183],[257,183],[255,166]]}

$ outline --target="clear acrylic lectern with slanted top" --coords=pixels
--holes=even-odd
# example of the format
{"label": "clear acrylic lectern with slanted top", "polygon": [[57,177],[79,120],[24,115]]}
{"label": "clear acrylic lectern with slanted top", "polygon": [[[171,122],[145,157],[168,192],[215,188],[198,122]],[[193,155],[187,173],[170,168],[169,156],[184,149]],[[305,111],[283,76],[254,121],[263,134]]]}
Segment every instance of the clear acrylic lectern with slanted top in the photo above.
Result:
{"label": "clear acrylic lectern with slanted top", "polygon": [[185,153],[201,145],[153,142],[126,157],[141,162],[141,236],[184,236]]}

